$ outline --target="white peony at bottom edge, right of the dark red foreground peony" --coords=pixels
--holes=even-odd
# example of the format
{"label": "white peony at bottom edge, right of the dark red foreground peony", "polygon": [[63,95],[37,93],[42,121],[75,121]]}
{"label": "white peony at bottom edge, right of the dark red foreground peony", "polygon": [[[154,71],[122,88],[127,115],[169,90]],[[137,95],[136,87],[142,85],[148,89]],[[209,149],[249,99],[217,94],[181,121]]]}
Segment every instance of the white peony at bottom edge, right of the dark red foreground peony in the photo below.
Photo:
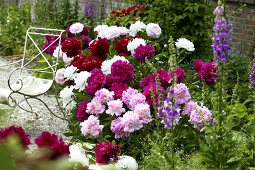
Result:
{"label": "white peony at bottom edge, right of the dark red foreground peony", "polygon": [[131,156],[119,156],[118,161],[115,163],[115,167],[126,170],[137,170],[138,164]]}

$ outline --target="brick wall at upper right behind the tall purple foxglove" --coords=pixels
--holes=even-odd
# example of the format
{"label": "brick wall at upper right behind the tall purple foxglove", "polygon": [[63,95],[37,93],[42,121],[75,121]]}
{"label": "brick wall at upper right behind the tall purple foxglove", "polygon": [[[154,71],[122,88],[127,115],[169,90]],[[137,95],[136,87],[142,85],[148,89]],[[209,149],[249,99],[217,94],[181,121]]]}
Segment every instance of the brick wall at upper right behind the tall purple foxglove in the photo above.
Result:
{"label": "brick wall at upper right behind the tall purple foxglove", "polygon": [[239,3],[246,3],[242,12],[230,16],[233,24],[232,43],[234,51],[255,57],[255,0],[228,0],[229,9],[239,7]]}

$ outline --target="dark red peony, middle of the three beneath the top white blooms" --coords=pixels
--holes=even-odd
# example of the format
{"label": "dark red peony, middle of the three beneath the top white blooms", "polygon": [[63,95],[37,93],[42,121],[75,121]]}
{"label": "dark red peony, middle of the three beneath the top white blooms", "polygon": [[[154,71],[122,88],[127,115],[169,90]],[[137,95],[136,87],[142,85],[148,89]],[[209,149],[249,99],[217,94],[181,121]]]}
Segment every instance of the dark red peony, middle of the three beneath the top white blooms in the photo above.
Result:
{"label": "dark red peony, middle of the three beneath the top white blooms", "polygon": [[91,56],[105,60],[109,52],[109,48],[110,45],[108,40],[106,38],[98,37],[98,39],[93,40],[90,44],[89,53]]}

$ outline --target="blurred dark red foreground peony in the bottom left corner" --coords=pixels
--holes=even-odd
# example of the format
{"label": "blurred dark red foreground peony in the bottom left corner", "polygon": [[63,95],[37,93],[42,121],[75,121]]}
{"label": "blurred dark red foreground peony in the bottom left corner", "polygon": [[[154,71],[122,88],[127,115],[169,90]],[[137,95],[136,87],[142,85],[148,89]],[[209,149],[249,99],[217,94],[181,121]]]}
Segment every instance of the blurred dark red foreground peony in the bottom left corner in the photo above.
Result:
{"label": "blurred dark red foreground peony in the bottom left corner", "polygon": [[10,126],[5,129],[0,129],[0,143],[4,142],[9,136],[16,135],[19,139],[21,144],[27,148],[29,144],[31,144],[30,139],[31,136],[26,133],[22,127]]}

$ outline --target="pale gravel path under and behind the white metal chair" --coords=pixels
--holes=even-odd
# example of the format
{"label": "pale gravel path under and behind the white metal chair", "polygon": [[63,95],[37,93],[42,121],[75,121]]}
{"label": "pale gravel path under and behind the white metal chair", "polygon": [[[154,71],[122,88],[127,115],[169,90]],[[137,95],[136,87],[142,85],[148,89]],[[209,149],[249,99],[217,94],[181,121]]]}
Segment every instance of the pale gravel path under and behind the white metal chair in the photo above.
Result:
{"label": "pale gravel path under and behind the white metal chair", "polygon": [[[7,63],[7,60],[0,57],[0,65],[5,63]],[[14,68],[14,66],[0,68],[1,88],[8,87],[8,76]],[[57,109],[57,103],[53,95],[42,95],[41,99],[45,101],[50,108],[59,113],[59,110]],[[39,115],[39,119],[35,119],[35,114],[25,112],[19,108],[16,108],[14,112],[10,114],[11,108],[0,104],[0,111],[2,110],[0,112],[0,114],[2,114],[0,115],[0,118],[2,119],[2,121],[0,121],[0,128],[8,125],[22,126],[26,132],[31,134],[32,138],[38,136],[42,131],[50,131],[56,135],[64,137],[63,133],[67,129],[67,123],[52,116],[47,111],[47,109],[38,101],[32,101],[31,104],[35,112]]]}

